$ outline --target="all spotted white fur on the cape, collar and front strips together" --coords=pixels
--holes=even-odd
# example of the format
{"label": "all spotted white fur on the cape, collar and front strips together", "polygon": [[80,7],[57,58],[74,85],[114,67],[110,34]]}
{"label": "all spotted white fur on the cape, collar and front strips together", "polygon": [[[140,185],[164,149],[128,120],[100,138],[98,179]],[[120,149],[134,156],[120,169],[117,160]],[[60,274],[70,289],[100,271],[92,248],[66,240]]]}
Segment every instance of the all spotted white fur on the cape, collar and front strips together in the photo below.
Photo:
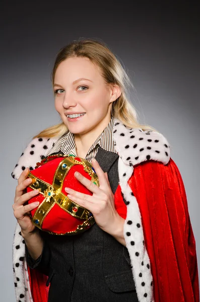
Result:
{"label": "all spotted white fur on the cape, collar and front strips together", "polygon": [[[46,157],[59,138],[40,137],[31,140],[16,164],[12,177],[18,179],[26,167],[29,167],[30,170],[34,169],[36,163]],[[153,277],[144,241],[141,213],[137,199],[128,185],[128,180],[134,172],[134,166],[144,161],[154,160],[166,165],[170,160],[170,145],[161,133],[131,129],[117,119],[114,119],[113,139],[119,155],[119,185],[127,204],[123,234],[131,260],[132,275],[136,284],[138,299],[140,302],[154,302]],[[17,301],[30,302],[32,296],[24,257],[25,242],[20,231],[19,223],[17,223],[13,241],[16,298]],[[135,242],[135,244],[131,245],[131,242]],[[141,278],[138,277],[140,275],[143,276],[143,283],[145,284],[143,286],[141,285]]]}

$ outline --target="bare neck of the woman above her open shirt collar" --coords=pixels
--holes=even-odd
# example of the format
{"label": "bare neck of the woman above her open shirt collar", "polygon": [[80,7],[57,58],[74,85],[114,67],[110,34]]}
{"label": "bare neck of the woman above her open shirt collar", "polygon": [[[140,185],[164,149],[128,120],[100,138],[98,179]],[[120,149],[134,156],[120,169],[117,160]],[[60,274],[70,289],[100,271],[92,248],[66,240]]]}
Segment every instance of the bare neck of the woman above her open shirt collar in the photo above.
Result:
{"label": "bare neck of the woman above her open shirt collar", "polygon": [[95,142],[97,137],[103,132],[110,122],[111,117],[106,116],[99,124],[87,133],[74,134],[77,156],[85,158],[89,148]]}

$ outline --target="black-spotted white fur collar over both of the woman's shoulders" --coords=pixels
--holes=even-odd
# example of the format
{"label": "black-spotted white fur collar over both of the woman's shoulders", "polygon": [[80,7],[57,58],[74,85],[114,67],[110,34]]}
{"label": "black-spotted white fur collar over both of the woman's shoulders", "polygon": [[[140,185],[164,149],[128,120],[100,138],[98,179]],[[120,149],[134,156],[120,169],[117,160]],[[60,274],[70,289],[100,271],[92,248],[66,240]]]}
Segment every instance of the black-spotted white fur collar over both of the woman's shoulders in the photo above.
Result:
{"label": "black-spotted white fur collar over both of the woman's shoulders", "polygon": [[[47,156],[59,138],[60,136],[32,139],[19,158],[12,177],[18,179],[26,167],[34,169],[36,163]],[[125,165],[135,166],[150,159],[165,165],[169,162],[170,146],[161,133],[128,128],[115,118],[113,139],[116,151]]]}

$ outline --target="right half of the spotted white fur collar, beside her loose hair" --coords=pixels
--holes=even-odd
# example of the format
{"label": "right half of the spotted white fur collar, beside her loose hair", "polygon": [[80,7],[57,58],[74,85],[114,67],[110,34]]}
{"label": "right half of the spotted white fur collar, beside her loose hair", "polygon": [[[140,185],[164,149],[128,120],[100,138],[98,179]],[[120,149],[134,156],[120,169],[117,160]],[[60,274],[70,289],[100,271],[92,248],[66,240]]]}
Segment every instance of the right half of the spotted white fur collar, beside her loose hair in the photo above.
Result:
{"label": "right half of the spotted white fur collar, beside her loose hair", "polygon": [[122,123],[115,123],[113,139],[117,153],[128,166],[149,160],[166,165],[170,160],[170,144],[162,133],[127,128]]}

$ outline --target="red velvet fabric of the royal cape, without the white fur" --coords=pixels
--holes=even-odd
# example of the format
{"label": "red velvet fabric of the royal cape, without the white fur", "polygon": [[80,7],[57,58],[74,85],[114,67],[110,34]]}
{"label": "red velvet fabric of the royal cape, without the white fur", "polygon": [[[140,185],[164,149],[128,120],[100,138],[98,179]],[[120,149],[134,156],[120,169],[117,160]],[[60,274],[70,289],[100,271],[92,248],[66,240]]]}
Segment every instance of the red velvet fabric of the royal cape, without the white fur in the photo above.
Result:
{"label": "red velvet fabric of the royal cape, without the white fur", "polygon": [[[195,239],[176,164],[171,158],[167,165],[152,160],[142,162],[134,166],[128,184],[142,216],[155,302],[199,302]],[[125,218],[120,186],[115,192],[115,205]],[[33,301],[46,302],[46,276],[36,270],[28,271]]]}

